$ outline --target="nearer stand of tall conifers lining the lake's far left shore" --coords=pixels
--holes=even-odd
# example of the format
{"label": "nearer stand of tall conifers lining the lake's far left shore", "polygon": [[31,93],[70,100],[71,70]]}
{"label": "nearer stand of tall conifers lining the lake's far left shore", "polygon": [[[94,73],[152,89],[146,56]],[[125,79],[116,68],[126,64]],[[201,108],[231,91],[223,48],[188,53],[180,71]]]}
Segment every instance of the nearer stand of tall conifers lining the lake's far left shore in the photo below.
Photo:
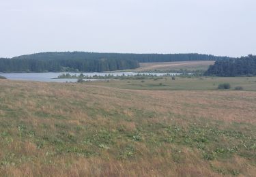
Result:
{"label": "nearer stand of tall conifers lining the lake's far left shore", "polygon": [[100,72],[135,69],[137,67],[139,67],[139,63],[137,61],[117,59],[0,59],[0,72]]}

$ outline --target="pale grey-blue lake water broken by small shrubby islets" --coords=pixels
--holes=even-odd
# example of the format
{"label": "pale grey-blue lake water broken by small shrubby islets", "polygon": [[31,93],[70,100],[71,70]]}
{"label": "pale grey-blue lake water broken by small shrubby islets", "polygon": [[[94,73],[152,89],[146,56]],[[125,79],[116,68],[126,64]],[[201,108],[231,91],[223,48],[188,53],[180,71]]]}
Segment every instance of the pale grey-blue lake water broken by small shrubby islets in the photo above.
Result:
{"label": "pale grey-blue lake water broken by small shrubby islets", "polygon": [[[81,73],[76,72],[48,72],[48,73],[0,73],[0,76],[4,76],[5,78],[8,78],[10,80],[30,80],[30,81],[40,81],[40,82],[76,82],[77,79],[53,79],[57,78],[61,74],[71,74],[71,75],[79,75]],[[138,73],[135,72],[100,72],[100,73],[83,73],[85,76],[105,76],[108,74],[111,74],[113,76],[122,76],[123,74],[125,76],[128,75],[136,75]],[[140,73],[140,74],[156,74],[157,76],[164,76],[167,73]],[[171,75],[179,75],[178,73],[169,73]],[[86,79],[85,79],[86,80]],[[90,79],[90,80],[96,80],[96,79]]]}

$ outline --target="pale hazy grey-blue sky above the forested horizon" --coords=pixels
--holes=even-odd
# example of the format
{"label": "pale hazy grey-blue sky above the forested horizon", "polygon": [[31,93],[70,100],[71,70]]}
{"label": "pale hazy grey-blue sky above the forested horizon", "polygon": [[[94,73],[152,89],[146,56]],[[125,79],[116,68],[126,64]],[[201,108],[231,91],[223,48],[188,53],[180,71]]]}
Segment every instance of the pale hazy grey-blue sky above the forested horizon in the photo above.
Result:
{"label": "pale hazy grey-blue sky above the forested horizon", "polygon": [[256,54],[255,0],[0,0],[0,57],[46,51]]}

